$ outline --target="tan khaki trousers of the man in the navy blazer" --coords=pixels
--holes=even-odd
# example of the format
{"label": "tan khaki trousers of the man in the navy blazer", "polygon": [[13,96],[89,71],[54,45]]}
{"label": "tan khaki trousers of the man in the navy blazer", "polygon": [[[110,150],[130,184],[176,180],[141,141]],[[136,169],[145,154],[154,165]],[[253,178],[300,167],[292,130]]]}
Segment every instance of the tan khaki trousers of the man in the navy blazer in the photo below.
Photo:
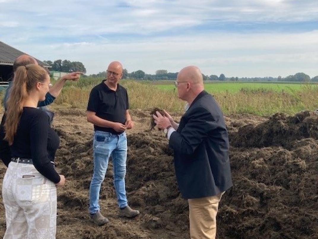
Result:
{"label": "tan khaki trousers of the man in the navy blazer", "polygon": [[188,199],[191,239],[215,239],[218,204],[223,193],[220,192],[210,197]]}

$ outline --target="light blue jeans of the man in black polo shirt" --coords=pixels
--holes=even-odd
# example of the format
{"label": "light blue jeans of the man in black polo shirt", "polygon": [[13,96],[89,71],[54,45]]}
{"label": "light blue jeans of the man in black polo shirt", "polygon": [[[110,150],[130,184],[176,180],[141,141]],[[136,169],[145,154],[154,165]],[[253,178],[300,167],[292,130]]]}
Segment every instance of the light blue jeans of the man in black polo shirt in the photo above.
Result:
{"label": "light blue jeans of the man in black polo shirt", "polygon": [[127,137],[126,133],[111,134],[95,131],[93,140],[94,171],[89,187],[89,212],[100,210],[99,195],[101,183],[104,181],[109,157],[113,159],[114,186],[120,208],[128,205],[125,189]]}

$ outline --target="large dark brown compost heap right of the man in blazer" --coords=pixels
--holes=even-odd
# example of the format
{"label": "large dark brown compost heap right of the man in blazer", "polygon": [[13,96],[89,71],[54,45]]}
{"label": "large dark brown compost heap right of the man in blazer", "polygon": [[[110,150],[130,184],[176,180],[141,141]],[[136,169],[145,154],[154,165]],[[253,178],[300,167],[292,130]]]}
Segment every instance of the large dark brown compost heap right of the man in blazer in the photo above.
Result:
{"label": "large dark brown compost heap right of the man in blazer", "polygon": [[314,112],[230,132],[234,186],[219,210],[220,238],[318,238],[317,139]]}

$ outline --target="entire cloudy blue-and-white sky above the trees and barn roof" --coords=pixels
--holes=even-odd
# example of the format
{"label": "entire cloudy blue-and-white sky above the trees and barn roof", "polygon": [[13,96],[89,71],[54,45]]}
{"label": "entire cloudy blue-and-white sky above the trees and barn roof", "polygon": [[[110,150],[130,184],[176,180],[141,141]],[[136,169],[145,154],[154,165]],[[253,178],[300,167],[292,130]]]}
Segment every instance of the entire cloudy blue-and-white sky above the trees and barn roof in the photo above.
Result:
{"label": "entire cloudy blue-and-white sky above the trees and barn roof", "polygon": [[[195,4],[194,4],[195,3]],[[0,0],[0,41],[40,60],[128,72],[318,75],[317,0]]]}

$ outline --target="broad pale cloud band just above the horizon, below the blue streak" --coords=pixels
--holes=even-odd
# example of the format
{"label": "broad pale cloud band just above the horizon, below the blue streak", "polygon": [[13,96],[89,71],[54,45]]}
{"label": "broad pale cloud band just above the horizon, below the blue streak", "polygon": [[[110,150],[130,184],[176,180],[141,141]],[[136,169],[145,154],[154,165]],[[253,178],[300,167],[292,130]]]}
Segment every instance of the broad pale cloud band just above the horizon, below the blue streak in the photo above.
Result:
{"label": "broad pale cloud band just above the horizon, below the blue streak", "polygon": [[[233,41],[235,39],[235,41]],[[197,65],[206,75],[287,76],[298,71],[318,75],[318,31],[263,34],[219,33],[161,37],[138,42],[77,42],[52,45],[22,44],[19,47],[41,60],[68,59],[83,62],[88,74],[106,69],[119,60],[129,72],[157,69],[177,72]]]}

